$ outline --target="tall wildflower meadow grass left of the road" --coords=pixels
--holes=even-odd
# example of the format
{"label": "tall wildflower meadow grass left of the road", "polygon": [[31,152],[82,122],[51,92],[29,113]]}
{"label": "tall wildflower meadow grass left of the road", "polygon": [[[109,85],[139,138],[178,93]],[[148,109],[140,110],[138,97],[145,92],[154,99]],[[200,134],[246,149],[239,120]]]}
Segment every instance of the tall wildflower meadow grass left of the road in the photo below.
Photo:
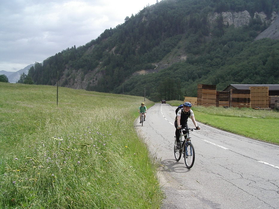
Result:
{"label": "tall wildflower meadow grass left of the road", "polygon": [[143,98],[61,87],[57,106],[56,87],[0,88],[0,208],[159,208],[133,128]]}

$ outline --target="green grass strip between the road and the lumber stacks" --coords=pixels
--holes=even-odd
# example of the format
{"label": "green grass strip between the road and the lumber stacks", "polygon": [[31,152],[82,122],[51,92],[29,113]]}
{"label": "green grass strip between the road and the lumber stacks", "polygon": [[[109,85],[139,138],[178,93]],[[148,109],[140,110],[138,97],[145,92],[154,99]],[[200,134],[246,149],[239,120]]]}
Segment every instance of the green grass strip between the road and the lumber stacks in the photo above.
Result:
{"label": "green grass strip between the road and the lumber stacks", "polygon": [[[178,106],[181,101],[168,101]],[[195,119],[204,124],[279,145],[279,112],[251,108],[192,107]]]}

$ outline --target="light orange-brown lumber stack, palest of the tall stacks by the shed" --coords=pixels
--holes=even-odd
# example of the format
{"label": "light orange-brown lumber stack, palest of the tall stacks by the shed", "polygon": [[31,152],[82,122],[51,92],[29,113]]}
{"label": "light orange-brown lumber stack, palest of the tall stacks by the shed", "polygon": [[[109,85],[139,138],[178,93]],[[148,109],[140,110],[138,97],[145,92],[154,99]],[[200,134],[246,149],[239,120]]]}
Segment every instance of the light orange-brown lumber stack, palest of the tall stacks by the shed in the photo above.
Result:
{"label": "light orange-brown lumber stack, palest of the tall stacks by the shed", "polygon": [[250,107],[269,107],[268,86],[250,86]]}

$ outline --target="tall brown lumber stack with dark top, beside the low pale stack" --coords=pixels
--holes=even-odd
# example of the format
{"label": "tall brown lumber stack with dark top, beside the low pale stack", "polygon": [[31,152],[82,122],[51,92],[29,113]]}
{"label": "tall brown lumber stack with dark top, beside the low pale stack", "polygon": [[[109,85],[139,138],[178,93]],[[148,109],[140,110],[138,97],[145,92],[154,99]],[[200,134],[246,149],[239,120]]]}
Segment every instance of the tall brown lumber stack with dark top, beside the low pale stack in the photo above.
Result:
{"label": "tall brown lumber stack with dark top, beside the low pale stack", "polygon": [[198,84],[197,105],[216,106],[216,85]]}

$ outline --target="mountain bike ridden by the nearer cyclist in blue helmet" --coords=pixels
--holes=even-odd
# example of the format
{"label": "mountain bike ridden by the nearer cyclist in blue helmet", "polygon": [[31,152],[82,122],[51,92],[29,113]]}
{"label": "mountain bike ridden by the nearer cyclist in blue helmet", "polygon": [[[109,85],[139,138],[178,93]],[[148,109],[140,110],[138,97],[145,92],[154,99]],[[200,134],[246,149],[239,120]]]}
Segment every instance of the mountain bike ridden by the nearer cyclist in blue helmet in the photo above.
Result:
{"label": "mountain bike ridden by the nearer cyclist in blue helmet", "polygon": [[[186,130],[187,133],[183,134],[182,130]],[[189,137],[190,131],[198,130],[196,128],[180,128],[180,142],[176,142],[176,136],[174,136],[174,157],[176,161],[179,161],[181,155],[183,154],[185,165],[187,168],[191,168],[194,165],[195,161],[195,149],[191,142],[191,137]],[[182,139],[183,136],[186,136],[186,139]],[[180,149],[176,149],[176,144],[180,143]]]}

